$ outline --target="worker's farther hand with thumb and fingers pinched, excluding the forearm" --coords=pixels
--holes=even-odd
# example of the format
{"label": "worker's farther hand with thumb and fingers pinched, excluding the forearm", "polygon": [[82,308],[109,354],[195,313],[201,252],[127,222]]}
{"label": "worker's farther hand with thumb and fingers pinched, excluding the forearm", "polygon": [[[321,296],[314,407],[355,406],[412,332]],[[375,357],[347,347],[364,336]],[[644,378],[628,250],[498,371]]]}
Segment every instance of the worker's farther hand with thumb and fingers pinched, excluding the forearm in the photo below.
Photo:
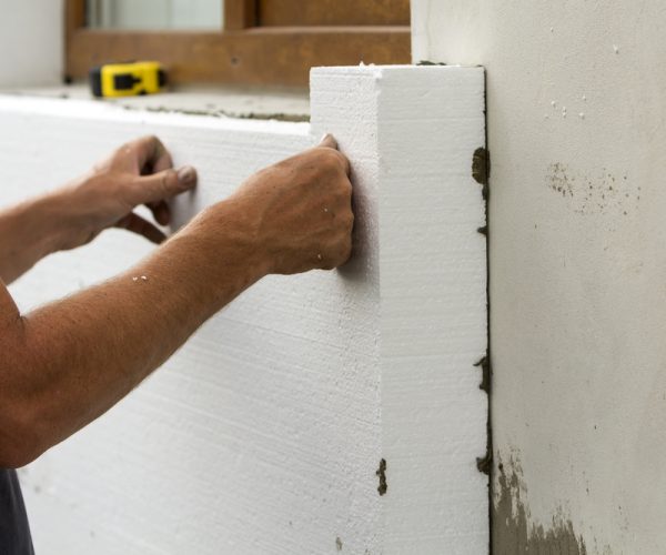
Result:
{"label": "worker's farther hand with thumb and fingers pinched, excluding the forearm", "polygon": [[63,248],[85,244],[112,226],[161,243],[165,235],[134,213],[134,208],[145,204],[155,221],[167,225],[171,219],[167,201],[195,185],[196,171],[191,167],[174,170],[171,155],[157,137],[124,144],[67,189],[73,215]]}

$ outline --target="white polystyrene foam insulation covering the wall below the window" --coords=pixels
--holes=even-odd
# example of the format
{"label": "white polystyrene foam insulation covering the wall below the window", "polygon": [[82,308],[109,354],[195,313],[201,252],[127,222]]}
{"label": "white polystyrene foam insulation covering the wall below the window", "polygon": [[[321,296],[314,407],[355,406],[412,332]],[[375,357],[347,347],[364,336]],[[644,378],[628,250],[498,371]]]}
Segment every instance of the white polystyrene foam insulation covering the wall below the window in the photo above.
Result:
{"label": "white polystyrene foam insulation covering the wall below the window", "polygon": [[[147,132],[200,170],[181,222],[324,130],[354,169],[349,266],[263,280],[21,472],[39,553],[485,553],[483,71],[329,69],[312,85],[312,129],[0,97],[8,203]],[[111,231],[12,292],[27,310],[148,249]]]}

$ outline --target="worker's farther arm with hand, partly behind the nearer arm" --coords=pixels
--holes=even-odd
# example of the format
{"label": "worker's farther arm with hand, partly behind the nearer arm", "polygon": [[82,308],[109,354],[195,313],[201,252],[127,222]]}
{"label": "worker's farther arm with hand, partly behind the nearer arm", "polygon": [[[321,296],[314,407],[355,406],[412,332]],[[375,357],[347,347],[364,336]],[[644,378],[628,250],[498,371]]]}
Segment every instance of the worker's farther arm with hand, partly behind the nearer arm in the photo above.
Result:
{"label": "worker's farther arm with hand, partly behind the nearer arm", "polygon": [[155,137],[124,144],[65,186],[0,211],[0,279],[11,283],[48,254],[81,246],[111,226],[160,243],[164,234],[134,208],[148,205],[165,225],[167,201],[195,184],[194,169],[173,170]]}

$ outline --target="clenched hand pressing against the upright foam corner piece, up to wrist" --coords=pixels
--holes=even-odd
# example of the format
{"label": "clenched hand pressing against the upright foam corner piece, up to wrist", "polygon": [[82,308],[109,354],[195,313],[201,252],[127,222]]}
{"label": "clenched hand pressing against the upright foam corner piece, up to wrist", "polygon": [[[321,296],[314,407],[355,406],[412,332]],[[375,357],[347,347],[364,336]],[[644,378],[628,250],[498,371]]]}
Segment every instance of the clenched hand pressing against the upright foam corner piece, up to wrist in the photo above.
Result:
{"label": "clenched hand pressing against the upright foam corner piece, up to wrist", "polygon": [[352,252],[350,163],[331,135],[252,175],[230,201],[255,222],[269,273],[344,264]]}

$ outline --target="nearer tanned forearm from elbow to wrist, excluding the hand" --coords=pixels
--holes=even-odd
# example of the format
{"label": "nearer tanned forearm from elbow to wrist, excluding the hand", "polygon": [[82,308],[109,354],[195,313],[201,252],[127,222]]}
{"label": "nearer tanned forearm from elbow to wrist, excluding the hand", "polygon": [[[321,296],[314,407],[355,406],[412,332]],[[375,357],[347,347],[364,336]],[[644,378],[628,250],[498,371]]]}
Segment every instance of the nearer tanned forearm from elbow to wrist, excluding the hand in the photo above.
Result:
{"label": "nearer tanned forearm from elbow to wrist, excluding the hand", "polygon": [[20,463],[110,408],[265,273],[234,223],[218,233],[206,225],[200,218],[131,271],[6,320],[14,322],[1,379],[11,406],[0,411],[14,425],[0,434],[23,443]]}

